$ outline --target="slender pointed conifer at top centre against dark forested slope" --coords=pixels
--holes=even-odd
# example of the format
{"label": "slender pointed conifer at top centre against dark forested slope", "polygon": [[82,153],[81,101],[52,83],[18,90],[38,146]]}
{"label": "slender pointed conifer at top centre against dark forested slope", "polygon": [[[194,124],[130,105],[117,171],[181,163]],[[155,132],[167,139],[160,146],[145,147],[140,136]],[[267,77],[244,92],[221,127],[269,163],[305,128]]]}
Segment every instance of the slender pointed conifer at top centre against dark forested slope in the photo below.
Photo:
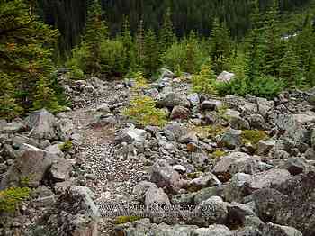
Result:
{"label": "slender pointed conifer at top centre against dark forested slope", "polygon": [[168,49],[176,41],[171,16],[171,8],[168,7],[166,10],[166,14],[164,15],[163,25],[160,32],[160,43],[162,51]]}

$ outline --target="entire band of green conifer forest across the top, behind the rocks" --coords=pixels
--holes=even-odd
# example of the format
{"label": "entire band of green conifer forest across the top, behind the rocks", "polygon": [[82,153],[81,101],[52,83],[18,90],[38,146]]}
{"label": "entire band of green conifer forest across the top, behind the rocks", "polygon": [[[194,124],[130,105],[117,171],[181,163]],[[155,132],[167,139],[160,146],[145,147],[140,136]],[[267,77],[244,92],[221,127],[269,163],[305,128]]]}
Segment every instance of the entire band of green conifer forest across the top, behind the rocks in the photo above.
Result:
{"label": "entire band of green conifer forest across the top, behind the rocks", "polygon": [[[157,79],[164,67],[217,95],[314,86],[312,9],[306,0],[2,1],[0,116],[62,110],[56,66],[73,79]],[[236,79],[216,83],[223,70]]]}

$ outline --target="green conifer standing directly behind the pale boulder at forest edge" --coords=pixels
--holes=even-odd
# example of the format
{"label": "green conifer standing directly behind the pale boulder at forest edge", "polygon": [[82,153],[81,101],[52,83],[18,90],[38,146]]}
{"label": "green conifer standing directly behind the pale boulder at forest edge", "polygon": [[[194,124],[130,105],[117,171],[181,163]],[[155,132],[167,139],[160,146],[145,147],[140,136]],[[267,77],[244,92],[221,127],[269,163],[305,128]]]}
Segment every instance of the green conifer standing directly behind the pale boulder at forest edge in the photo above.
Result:
{"label": "green conifer standing directly behind the pale boulder at forest edge", "polygon": [[213,21],[210,40],[210,58],[213,63],[213,69],[217,74],[220,74],[224,69],[225,60],[229,59],[231,41],[226,24],[220,23],[218,18],[215,18]]}

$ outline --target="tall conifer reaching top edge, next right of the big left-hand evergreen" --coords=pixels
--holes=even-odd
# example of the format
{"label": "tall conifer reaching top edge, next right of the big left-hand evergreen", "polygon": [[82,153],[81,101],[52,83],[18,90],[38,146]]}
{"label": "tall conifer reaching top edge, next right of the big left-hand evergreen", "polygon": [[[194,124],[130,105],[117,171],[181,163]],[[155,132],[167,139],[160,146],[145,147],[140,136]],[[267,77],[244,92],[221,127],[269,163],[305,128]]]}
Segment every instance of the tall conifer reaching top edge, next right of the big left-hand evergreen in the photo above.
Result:
{"label": "tall conifer reaching top edge, next right of the big left-hand evergreen", "polygon": [[101,42],[107,36],[107,27],[102,20],[102,7],[99,0],[93,0],[87,13],[84,37],[87,47],[85,72],[92,76],[101,74]]}

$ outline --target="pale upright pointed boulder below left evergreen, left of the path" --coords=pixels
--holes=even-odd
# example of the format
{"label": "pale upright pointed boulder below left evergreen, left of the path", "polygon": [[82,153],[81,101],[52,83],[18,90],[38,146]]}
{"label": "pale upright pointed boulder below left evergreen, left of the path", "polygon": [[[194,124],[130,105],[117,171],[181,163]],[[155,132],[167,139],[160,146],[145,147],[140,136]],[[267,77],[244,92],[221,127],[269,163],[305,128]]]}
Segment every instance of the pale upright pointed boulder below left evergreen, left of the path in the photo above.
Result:
{"label": "pale upright pointed boulder below left evergreen, left of the path", "polygon": [[56,137],[55,116],[45,109],[31,113],[26,118],[26,123],[31,127],[31,137],[47,140]]}

